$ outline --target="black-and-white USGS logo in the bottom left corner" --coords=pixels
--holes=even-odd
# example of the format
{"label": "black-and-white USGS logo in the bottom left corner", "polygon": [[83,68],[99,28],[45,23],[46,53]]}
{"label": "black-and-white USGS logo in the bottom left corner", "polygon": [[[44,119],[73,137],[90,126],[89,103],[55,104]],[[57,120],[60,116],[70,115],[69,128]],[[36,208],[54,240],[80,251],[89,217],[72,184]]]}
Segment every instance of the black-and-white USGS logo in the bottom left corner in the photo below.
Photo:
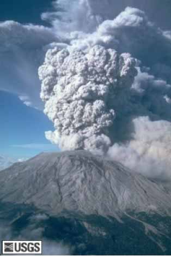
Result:
{"label": "black-and-white USGS logo in the bottom left corner", "polygon": [[2,241],[2,254],[41,254],[42,241]]}

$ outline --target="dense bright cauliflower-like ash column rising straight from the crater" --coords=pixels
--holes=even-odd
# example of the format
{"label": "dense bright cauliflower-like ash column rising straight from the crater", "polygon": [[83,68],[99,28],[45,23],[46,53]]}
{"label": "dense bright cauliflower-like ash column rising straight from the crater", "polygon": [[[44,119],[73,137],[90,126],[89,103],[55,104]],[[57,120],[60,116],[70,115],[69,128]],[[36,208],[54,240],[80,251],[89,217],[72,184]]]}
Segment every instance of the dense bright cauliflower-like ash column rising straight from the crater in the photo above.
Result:
{"label": "dense bright cauliflower-like ash column rising straight from the crater", "polygon": [[135,64],[129,53],[119,55],[98,45],[87,52],[48,50],[39,68],[41,98],[56,130],[46,137],[64,150],[107,151],[117,92],[130,89]]}

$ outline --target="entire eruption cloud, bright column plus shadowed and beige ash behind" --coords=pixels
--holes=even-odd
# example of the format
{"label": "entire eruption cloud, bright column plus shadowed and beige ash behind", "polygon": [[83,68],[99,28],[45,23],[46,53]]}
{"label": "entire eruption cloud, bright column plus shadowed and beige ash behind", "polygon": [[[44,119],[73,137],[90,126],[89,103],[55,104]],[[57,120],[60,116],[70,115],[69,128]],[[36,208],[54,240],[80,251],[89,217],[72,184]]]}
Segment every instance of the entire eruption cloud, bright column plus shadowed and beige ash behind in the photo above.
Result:
{"label": "entire eruption cloud, bright column plus shadowed and beige ash behind", "polygon": [[97,10],[80,0],[70,12],[42,15],[54,31],[62,28],[65,42],[53,44],[39,68],[44,112],[55,128],[46,138],[64,150],[108,151],[164,179],[171,174],[171,32],[131,7],[108,20],[110,1],[97,2]]}

